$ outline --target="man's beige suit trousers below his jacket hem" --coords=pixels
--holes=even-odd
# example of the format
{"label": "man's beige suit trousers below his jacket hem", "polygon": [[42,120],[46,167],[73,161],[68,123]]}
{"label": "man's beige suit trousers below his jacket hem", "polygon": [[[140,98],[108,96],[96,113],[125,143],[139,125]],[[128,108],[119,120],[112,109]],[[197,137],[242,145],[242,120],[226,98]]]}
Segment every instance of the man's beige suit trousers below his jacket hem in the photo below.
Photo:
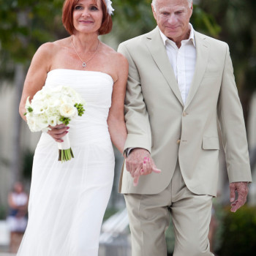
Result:
{"label": "man's beige suit trousers below his jacket hem", "polygon": [[214,256],[208,230],[212,197],[187,189],[177,164],[169,186],[157,195],[124,195],[132,233],[132,256],[166,256],[170,215],[175,231],[173,256]]}

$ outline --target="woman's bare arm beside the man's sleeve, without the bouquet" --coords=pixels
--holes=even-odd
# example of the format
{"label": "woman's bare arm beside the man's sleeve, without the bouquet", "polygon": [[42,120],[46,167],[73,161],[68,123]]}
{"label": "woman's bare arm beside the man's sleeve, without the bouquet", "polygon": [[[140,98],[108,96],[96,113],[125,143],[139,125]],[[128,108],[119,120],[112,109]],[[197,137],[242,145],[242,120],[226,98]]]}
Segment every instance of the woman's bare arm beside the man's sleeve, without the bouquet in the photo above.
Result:
{"label": "woman's bare arm beside the man's sleeve, without the bouquet", "polygon": [[118,78],[113,85],[112,104],[108,114],[108,129],[113,144],[123,154],[127,139],[127,128],[124,121],[124,97],[128,77],[128,61],[117,53],[116,73]]}

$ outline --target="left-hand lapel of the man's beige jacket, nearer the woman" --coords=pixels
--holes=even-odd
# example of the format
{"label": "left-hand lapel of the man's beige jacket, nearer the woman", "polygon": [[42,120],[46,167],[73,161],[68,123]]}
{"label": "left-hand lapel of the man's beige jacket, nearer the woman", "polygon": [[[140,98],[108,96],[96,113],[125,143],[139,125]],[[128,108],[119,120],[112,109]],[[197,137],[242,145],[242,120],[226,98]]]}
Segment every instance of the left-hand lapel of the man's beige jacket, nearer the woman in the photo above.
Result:
{"label": "left-hand lapel of the man's beige jacket, nearer the woman", "polygon": [[146,45],[148,50],[151,52],[157,67],[167,80],[170,89],[172,89],[173,93],[178,98],[178,101],[181,102],[181,105],[184,105],[181,98],[181,92],[178,89],[178,83],[176,81],[173,68],[170,65],[170,61],[165,50],[165,45],[162,42],[158,28],[147,34]]}

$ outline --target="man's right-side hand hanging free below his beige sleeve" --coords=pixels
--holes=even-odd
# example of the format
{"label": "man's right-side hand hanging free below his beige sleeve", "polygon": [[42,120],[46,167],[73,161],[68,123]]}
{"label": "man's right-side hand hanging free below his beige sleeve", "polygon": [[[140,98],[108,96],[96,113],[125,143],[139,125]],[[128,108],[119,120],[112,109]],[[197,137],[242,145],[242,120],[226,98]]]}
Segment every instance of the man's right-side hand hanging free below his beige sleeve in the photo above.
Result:
{"label": "man's right-side hand hanging free below his beige sleeve", "polygon": [[[236,192],[238,198],[236,200]],[[230,183],[230,202],[232,212],[236,212],[238,208],[244,206],[246,202],[246,197],[248,194],[248,185],[247,182],[233,182]]]}

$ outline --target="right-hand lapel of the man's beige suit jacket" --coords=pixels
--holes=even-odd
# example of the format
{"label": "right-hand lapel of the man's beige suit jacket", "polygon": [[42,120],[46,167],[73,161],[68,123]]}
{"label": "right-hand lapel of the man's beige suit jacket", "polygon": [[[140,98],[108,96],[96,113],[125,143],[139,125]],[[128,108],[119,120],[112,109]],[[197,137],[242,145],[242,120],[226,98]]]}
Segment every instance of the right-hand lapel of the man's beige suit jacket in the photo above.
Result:
{"label": "right-hand lapel of the man's beige suit jacket", "polygon": [[195,47],[197,50],[197,61],[195,65],[195,73],[192,79],[192,83],[189,90],[189,95],[185,104],[185,109],[188,107],[189,103],[195,97],[198,87],[200,86],[203,75],[206,72],[206,66],[208,63],[209,48],[206,37],[195,31]]}

